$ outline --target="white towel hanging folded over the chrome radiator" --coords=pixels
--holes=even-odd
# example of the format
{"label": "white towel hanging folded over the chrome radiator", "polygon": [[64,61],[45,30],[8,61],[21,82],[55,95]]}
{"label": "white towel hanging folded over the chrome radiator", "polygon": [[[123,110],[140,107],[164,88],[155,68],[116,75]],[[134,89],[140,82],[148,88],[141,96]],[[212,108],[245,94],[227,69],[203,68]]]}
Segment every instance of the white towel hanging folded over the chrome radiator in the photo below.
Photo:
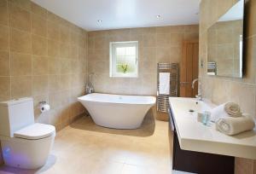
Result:
{"label": "white towel hanging folded over the chrome radiator", "polygon": [[170,73],[159,73],[159,93],[160,95],[170,94]]}

